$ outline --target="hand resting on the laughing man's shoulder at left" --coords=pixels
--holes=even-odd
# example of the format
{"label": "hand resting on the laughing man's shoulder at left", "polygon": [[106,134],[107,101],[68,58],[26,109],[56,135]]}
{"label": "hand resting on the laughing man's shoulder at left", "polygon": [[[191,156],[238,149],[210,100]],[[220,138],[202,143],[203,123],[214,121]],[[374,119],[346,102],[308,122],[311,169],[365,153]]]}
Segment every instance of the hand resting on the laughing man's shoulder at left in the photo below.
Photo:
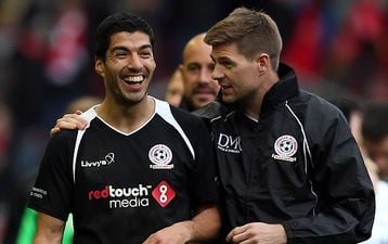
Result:
{"label": "hand resting on the laughing man's shoulder at left", "polygon": [[50,131],[50,137],[60,132],[61,129],[83,130],[87,126],[87,121],[79,116],[81,114],[81,111],[76,111],[75,114],[65,114],[62,118],[57,119],[54,128]]}

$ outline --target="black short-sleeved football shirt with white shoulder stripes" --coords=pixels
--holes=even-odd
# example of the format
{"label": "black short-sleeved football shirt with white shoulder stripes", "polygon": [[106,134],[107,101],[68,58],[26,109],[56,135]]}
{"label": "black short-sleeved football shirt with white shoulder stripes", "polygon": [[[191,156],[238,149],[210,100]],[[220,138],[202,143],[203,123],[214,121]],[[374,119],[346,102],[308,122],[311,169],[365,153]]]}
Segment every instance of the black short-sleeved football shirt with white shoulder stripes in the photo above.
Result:
{"label": "black short-sleeved football shirt with white shoulder stripes", "polygon": [[124,133],[83,113],[86,130],[50,139],[28,206],[74,215],[74,243],[142,243],[218,201],[215,155],[202,119],[155,99],[155,113]]}

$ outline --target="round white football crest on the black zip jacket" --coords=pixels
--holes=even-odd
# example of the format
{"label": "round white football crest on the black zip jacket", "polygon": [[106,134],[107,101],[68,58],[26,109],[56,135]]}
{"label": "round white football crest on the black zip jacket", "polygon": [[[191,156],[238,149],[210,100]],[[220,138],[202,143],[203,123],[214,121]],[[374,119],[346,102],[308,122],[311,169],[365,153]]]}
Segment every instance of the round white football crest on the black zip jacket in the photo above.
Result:
{"label": "round white football crest on the black zip jacket", "polygon": [[293,136],[284,134],[276,139],[274,145],[275,154],[272,154],[274,159],[296,162],[293,157],[298,151],[298,142]]}

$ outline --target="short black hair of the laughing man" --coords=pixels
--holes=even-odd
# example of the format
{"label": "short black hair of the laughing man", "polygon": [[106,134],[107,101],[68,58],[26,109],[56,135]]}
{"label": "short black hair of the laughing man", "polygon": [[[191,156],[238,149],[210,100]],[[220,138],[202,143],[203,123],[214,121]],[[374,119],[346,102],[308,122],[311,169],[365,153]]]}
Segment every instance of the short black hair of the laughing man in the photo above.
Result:
{"label": "short black hair of the laughing man", "polygon": [[141,31],[150,37],[152,49],[155,46],[155,34],[148,23],[131,13],[116,13],[101,22],[95,33],[94,55],[105,61],[106,50],[111,43],[111,37],[120,31]]}

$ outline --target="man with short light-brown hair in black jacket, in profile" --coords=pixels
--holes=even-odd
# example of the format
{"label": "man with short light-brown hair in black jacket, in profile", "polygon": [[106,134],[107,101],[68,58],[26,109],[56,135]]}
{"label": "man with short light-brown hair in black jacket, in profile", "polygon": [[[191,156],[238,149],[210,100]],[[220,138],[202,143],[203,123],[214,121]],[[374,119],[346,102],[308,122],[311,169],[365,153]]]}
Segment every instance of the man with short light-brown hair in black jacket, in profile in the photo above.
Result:
{"label": "man with short light-brown hair in black jacket, in profile", "polygon": [[210,114],[227,241],[367,239],[375,198],[359,147],[340,112],[299,90],[294,70],[280,63],[273,20],[238,8],[205,42],[212,46],[223,110],[210,105],[198,114]]}

